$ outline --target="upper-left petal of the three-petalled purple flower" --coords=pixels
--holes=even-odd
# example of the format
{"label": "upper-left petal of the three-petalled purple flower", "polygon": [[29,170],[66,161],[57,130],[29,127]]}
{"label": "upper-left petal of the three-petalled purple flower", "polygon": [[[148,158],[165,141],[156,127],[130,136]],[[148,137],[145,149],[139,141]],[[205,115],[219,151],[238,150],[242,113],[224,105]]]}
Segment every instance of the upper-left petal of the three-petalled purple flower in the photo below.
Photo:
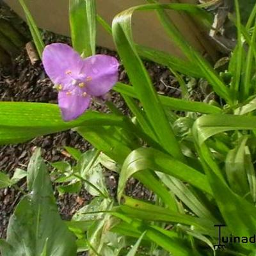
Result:
{"label": "upper-left petal of the three-petalled purple flower", "polygon": [[83,67],[83,59],[67,44],[50,44],[42,56],[45,72],[55,84],[72,83]]}

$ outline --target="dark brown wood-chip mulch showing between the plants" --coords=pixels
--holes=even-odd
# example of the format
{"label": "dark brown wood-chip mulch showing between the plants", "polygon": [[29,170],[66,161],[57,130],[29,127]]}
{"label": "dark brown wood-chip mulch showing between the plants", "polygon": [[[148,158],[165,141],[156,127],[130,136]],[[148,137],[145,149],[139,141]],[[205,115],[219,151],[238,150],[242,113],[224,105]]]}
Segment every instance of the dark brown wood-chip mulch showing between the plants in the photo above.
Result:
{"label": "dark brown wood-chip mulch showing between the plants", "polygon": [[[69,42],[68,38],[45,33],[47,42]],[[108,49],[97,49],[99,53],[110,54],[115,56],[115,52]],[[160,67],[154,63],[147,62],[146,66],[152,77],[157,90],[164,95],[174,95],[179,97],[180,90],[177,88],[177,80],[172,76],[168,68]],[[20,55],[13,61],[13,65],[9,74],[0,72],[0,100],[1,101],[24,101],[24,102],[50,102],[57,103],[57,92],[52,88],[53,84],[45,75],[42,63],[38,61],[32,65],[29,61],[26,49],[22,49]],[[127,75],[123,68],[120,68],[120,81],[127,83]],[[118,93],[111,92],[111,100],[115,106],[123,113],[129,115],[129,111],[125,106],[124,100]],[[92,109],[107,112],[109,111],[102,102],[94,102]],[[74,163],[72,158],[63,147],[74,147],[82,152],[91,148],[90,143],[83,140],[79,134],[74,131],[59,132],[48,136],[42,136],[34,140],[18,145],[6,145],[0,147],[0,170],[4,173],[12,174],[16,168],[26,170],[29,159],[35,150],[35,147],[42,148],[42,157],[48,162],[69,161]],[[112,193],[116,193],[117,177],[115,173],[106,172],[106,181]],[[19,186],[26,188],[24,180]],[[133,195],[137,198],[150,198],[150,193],[141,186],[140,182],[131,179],[127,184],[127,195]],[[6,227],[10,215],[19,202],[20,192],[13,188],[0,189],[0,238],[5,238]],[[58,205],[61,216],[64,220],[70,220],[72,214],[80,207],[88,204],[92,199],[86,191],[81,191],[79,195],[65,195],[58,197]]]}

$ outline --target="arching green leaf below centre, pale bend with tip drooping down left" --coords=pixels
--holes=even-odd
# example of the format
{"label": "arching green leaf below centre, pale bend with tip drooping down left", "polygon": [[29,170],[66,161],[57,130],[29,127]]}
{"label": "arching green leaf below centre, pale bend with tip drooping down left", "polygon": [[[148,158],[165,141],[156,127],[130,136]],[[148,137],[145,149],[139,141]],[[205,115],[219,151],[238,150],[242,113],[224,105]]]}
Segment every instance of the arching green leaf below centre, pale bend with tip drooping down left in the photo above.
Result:
{"label": "arching green leaf below centre, pale bend with tip drooping down left", "polygon": [[203,173],[154,148],[138,148],[129,154],[122,166],[118,182],[118,200],[122,197],[129,177],[147,168],[166,173],[212,194],[209,183],[206,182],[206,177]]}

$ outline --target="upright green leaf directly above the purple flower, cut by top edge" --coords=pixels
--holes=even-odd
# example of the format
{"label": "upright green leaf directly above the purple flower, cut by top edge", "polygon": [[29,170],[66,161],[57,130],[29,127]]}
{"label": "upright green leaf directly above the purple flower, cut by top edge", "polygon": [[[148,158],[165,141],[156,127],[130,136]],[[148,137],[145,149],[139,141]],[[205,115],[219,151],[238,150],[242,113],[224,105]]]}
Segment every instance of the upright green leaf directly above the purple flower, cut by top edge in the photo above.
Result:
{"label": "upright green leaf directly above the purple flower, cut by top edge", "polygon": [[95,0],[70,0],[69,19],[74,49],[84,57],[95,54],[97,20]]}

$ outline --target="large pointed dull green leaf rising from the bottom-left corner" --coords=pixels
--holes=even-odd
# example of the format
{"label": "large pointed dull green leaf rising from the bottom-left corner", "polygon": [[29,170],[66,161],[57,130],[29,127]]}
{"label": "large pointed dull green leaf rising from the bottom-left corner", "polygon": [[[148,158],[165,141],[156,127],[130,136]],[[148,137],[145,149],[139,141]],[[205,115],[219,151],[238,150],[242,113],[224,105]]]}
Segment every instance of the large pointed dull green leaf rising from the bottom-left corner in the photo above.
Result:
{"label": "large pointed dull green leaf rising from the bottom-left corner", "polygon": [[[51,179],[37,149],[28,167],[29,195],[24,196],[10,218],[3,256],[74,256],[76,241],[58,214]],[[45,249],[47,244],[47,249]]]}

